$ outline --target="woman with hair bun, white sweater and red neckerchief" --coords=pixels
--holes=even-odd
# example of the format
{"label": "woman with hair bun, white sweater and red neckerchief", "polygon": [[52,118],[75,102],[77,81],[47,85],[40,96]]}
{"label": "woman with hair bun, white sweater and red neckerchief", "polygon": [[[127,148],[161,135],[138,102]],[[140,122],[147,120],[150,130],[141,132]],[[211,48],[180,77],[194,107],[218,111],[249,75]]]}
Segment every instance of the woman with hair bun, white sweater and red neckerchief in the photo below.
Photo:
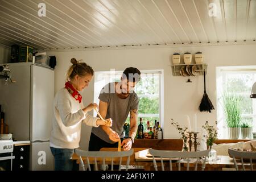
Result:
{"label": "woman with hair bun, white sweater and red neckerchief", "polygon": [[112,126],[112,119],[102,121],[88,114],[96,109],[97,104],[84,107],[82,91],[92,80],[93,69],[86,63],[79,63],[71,59],[71,67],[67,73],[65,87],[56,93],[54,98],[54,118],[50,138],[50,148],[55,160],[55,170],[72,170],[71,160],[75,148],[79,147],[81,123],[98,127],[100,125]]}

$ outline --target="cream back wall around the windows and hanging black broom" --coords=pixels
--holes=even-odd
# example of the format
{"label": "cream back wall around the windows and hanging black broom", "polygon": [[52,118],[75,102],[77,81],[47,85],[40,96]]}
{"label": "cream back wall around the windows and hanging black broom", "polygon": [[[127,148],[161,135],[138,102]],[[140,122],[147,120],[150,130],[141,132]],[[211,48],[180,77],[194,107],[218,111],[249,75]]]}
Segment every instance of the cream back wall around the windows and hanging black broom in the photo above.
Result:
{"label": "cream back wall around the windows and hanging black broom", "polygon": [[[230,65],[255,65],[256,44],[234,46],[197,46],[197,47],[160,47],[141,49],[109,49],[88,51],[49,51],[48,55],[55,55],[57,66],[55,69],[55,93],[64,86],[65,73],[71,65],[72,57],[83,59],[93,67],[94,71],[110,71],[114,68],[122,71],[126,67],[138,69],[164,69],[164,138],[180,138],[177,130],[171,126],[171,118],[181,126],[187,125],[185,114],[193,117],[197,114],[197,127],[209,121],[211,125],[216,121],[216,110],[212,113],[200,113],[198,107],[204,93],[203,76],[191,77],[192,83],[187,83],[186,77],[174,77],[171,71],[171,55],[174,52],[186,51],[195,53],[202,51],[204,61],[208,64],[206,76],[207,94],[216,105],[216,67]],[[89,88],[82,93],[85,105],[93,102],[93,80]],[[192,122],[193,129],[193,122]],[[90,127],[82,127],[80,146],[88,146]]]}

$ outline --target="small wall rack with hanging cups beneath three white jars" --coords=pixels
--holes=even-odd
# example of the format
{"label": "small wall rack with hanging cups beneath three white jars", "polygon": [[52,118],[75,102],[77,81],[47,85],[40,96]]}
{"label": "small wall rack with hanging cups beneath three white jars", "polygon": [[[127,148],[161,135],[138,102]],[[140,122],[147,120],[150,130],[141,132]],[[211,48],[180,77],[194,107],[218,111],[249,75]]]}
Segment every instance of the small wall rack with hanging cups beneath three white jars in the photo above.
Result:
{"label": "small wall rack with hanging cups beneath three white jars", "polygon": [[207,74],[207,64],[173,64],[172,75],[173,76],[199,76]]}

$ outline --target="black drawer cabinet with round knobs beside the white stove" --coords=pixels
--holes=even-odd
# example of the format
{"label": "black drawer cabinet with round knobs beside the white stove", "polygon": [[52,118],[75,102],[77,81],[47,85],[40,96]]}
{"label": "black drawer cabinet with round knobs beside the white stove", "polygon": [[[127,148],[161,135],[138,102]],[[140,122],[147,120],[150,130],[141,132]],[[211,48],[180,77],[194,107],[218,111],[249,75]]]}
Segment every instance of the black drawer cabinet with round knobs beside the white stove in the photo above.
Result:
{"label": "black drawer cabinet with round knobs beside the white stove", "polygon": [[30,161],[30,144],[14,144],[13,171],[28,171]]}

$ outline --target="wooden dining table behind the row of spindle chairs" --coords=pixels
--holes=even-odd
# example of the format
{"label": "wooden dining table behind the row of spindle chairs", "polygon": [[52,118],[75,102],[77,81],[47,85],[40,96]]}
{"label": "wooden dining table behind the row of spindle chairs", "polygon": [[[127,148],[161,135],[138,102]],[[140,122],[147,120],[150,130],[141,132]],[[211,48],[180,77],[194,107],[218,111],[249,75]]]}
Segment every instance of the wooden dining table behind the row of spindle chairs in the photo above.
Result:
{"label": "wooden dining table behind the row of spindle chairs", "polygon": [[[148,148],[133,148],[134,150],[134,154],[130,157],[130,165],[131,166],[141,166],[143,167],[144,170],[146,171],[154,171],[154,166],[152,163],[152,158],[147,157],[147,152],[148,152]],[[117,148],[101,148],[101,151],[117,151]],[[79,160],[79,156],[77,156],[76,154],[73,154],[72,156],[73,160],[77,160],[77,164],[80,163]],[[84,160],[84,162],[86,161],[86,158],[82,158],[82,160]],[[94,163],[94,159],[89,159],[90,163]],[[160,158],[156,158],[156,161],[160,160]],[[169,159],[164,159],[164,164],[166,167],[169,166]],[[102,162],[102,159],[97,159],[97,162],[100,163]],[[113,160],[114,164],[119,164],[119,159],[114,159]],[[127,158],[122,158],[122,164],[126,164],[127,162]],[[86,163],[86,162],[85,162]],[[111,159],[110,158],[105,158],[105,163],[106,164],[111,164]],[[160,165],[160,162],[158,163]],[[238,166],[241,165],[241,162],[237,162]],[[245,165],[249,165],[249,162],[245,162]],[[173,169],[175,169],[175,167],[177,166],[177,163],[173,163]],[[189,167],[190,170],[193,170],[195,164],[190,163]],[[166,168],[165,167],[165,168]],[[181,164],[181,168],[187,168],[187,163],[182,163]],[[138,169],[142,169],[142,168],[138,168]],[[168,169],[168,168],[166,168]],[[199,166],[198,169],[200,170],[201,167]],[[256,169],[256,165],[254,166],[254,169]],[[205,165],[205,171],[222,171],[222,170],[234,170],[234,163],[233,163],[233,159],[230,158],[229,156],[218,156],[218,160],[216,160],[215,162],[213,162],[213,164],[209,164],[208,162]]]}

